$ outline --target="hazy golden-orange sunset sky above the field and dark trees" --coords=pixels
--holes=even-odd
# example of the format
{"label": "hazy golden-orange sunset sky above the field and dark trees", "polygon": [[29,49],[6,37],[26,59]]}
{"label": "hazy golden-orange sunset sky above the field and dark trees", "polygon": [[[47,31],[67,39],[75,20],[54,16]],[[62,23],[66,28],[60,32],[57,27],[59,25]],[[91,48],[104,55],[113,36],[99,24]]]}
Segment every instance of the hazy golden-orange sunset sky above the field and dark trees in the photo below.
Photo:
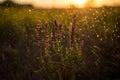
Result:
{"label": "hazy golden-orange sunset sky above the field and dark trees", "polygon": [[[0,0],[3,2],[5,0]],[[67,8],[71,5],[77,7],[101,7],[101,6],[118,6],[120,5],[120,0],[12,0],[19,4],[31,4],[34,7],[43,8]]]}

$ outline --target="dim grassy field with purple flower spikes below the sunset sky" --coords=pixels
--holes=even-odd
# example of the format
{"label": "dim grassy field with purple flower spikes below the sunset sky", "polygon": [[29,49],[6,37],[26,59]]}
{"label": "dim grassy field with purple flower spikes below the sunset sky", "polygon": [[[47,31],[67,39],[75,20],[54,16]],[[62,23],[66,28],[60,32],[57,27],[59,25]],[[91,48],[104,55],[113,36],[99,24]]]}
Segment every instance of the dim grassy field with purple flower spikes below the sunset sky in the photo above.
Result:
{"label": "dim grassy field with purple flower spikes below the sunset sky", "polygon": [[0,7],[0,80],[119,80],[120,7]]}

